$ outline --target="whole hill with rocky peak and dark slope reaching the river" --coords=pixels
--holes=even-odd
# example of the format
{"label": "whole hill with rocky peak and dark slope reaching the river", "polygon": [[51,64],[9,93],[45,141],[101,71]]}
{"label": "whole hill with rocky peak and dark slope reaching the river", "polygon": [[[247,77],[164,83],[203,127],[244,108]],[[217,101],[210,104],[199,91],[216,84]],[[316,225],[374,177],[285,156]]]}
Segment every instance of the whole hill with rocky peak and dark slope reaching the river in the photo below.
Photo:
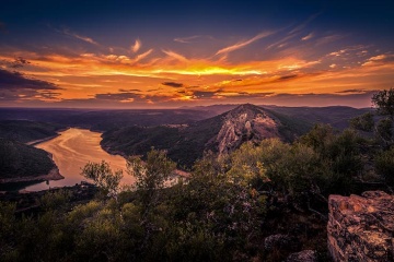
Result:
{"label": "whole hill with rocky peak and dark slope reaching the river", "polygon": [[102,146],[123,155],[144,155],[154,146],[166,150],[181,166],[190,167],[205,151],[225,154],[245,141],[258,143],[268,138],[290,141],[309,127],[303,121],[297,126],[280,114],[246,104],[188,126],[113,129],[103,134]]}

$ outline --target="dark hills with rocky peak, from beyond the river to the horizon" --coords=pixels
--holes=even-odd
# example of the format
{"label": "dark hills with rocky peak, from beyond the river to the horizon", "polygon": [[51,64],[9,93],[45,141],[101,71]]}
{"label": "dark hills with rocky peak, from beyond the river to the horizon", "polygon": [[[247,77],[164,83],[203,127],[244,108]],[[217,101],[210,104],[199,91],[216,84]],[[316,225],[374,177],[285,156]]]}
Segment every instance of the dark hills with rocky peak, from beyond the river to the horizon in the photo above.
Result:
{"label": "dark hills with rocky peak, from beyond the river to the horizon", "polygon": [[[290,142],[306,133],[317,122],[345,129],[349,119],[368,110],[370,109],[251,104],[149,110],[0,108],[0,151],[3,155],[10,148],[23,152],[22,162],[32,168],[26,166],[22,172],[16,168],[14,174],[18,176],[40,174],[42,170],[26,159],[40,159],[37,162],[47,163],[44,166],[49,167],[49,158],[43,152],[38,153],[37,148],[22,143],[48,139],[67,127],[80,127],[102,131],[102,146],[109,153],[144,155],[154,146],[166,150],[169,156],[181,167],[189,168],[206,151],[225,154],[245,141],[258,143],[267,138]],[[7,159],[18,167],[20,164],[16,162],[21,163],[22,158],[15,154],[13,156],[15,157]],[[39,157],[35,158],[37,156]],[[7,166],[10,164],[8,162],[2,162],[1,165]],[[10,166],[0,166],[0,177],[10,176],[9,170]]]}

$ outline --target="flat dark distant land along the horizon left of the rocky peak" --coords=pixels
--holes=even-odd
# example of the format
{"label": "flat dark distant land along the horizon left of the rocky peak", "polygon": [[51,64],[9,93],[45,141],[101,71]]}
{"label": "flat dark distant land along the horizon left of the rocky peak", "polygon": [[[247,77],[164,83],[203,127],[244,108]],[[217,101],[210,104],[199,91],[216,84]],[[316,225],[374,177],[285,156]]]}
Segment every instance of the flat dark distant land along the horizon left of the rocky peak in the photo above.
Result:
{"label": "flat dark distant land along the horizon left of the rocky peak", "polygon": [[50,109],[0,108],[0,120],[32,120],[68,127],[107,131],[126,126],[159,126],[192,123],[215,112],[183,109]]}

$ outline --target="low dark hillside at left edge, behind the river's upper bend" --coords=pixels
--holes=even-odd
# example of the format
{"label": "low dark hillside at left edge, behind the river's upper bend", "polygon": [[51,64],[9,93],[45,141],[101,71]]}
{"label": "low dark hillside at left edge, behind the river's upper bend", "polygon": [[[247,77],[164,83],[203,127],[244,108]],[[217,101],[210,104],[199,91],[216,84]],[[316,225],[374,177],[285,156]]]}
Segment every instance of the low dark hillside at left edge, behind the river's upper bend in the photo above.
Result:
{"label": "low dark hillside at left edge, behind the river's upper bend", "polygon": [[0,121],[0,138],[27,143],[54,136],[61,128],[61,124],[56,123],[3,120]]}

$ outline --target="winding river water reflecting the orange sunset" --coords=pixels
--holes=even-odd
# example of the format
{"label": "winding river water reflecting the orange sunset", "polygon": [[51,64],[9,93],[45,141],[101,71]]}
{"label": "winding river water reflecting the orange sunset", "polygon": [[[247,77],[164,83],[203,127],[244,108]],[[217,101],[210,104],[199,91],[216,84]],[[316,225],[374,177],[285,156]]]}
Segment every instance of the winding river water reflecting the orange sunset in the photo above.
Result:
{"label": "winding river water reflecting the orange sunset", "polygon": [[36,183],[26,187],[25,190],[39,191],[54,187],[74,186],[86,180],[80,174],[81,168],[88,162],[101,160],[109,163],[113,170],[124,170],[123,184],[132,183],[134,178],[126,172],[126,159],[119,155],[109,155],[100,146],[101,133],[70,128],[59,134],[59,136],[35,146],[53,154],[53,158],[65,179]]}

